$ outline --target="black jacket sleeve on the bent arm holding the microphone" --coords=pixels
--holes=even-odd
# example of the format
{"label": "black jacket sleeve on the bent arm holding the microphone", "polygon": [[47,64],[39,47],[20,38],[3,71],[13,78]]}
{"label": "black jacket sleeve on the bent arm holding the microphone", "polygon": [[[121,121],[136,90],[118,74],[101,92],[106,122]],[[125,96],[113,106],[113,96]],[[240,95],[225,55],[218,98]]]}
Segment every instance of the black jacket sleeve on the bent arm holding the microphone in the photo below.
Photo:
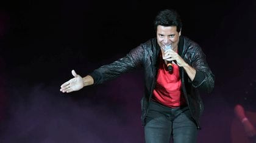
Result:
{"label": "black jacket sleeve on the bent arm holding the microphone", "polygon": [[207,64],[202,48],[199,45],[194,45],[191,55],[191,66],[196,70],[192,86],[207,93],[212,92],[215,85],[215,76]]}

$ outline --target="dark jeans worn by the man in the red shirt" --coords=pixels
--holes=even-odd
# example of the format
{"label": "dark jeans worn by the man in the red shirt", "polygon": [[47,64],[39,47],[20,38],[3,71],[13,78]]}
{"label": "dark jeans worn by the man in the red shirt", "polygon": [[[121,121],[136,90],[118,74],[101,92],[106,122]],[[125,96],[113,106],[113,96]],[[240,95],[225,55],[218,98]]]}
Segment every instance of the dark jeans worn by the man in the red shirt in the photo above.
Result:
{"label": "dark jeans worn by the man in the red shirt", "polygon": [[188,107],[169,108],[152,102],[144,127],[146,143],[195,143],[196,124]]}

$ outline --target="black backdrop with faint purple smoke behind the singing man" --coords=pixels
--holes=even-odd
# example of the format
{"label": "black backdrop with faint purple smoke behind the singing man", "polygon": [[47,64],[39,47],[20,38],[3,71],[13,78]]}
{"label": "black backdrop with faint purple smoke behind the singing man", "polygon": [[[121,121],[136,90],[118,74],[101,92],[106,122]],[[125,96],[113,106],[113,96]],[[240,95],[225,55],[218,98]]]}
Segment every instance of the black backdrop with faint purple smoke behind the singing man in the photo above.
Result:
{"label": "black backdrop with faint purple smoke behind the singing man", "polygon": [[256,2],[1,1],[0,142],[143,142],[141,70],[61,93],[71,70],[85,76],[155,36],[159,10],[174,8],[182,35],[201,45],[216,76],[202,94],[199,142],[230,142],[233,105],[255,80]]}

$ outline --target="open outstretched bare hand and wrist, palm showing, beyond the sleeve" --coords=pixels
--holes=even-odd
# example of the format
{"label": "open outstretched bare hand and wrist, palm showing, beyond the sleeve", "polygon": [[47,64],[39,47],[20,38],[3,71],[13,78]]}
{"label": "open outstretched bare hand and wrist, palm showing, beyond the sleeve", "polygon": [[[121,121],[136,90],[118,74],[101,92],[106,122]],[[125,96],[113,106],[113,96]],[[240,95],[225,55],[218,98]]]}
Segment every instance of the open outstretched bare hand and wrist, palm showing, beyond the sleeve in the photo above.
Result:
{"label": "open outstretched bare hand and wrist, palm showing, beyond the sleeve", "polygon": [[85,86],[93,84],[93,78],[90,75],[85,76],[82,78],[80,75],[77,75],[76,71],[71,71],[74,78],[69,79],[69,81],[65,82],[64,84],[60,85],[60,91],[63,93],[69,93],[72,91],[77,91],[82,89]]}

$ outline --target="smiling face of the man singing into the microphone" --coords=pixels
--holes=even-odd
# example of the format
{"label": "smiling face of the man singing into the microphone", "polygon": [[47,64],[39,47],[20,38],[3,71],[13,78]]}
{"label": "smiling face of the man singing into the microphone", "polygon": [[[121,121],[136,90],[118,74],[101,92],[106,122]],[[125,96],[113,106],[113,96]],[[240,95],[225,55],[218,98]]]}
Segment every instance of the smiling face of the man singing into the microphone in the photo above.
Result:
{"label": "smiling face of the man singing into the microphone", "polygon": [[[172,50],[177,50],[179,43],[180,32],[177,32],[176,26],[157,26],[157,43],[160,47],[165,47],[166,45],[171,45]],[[161,48],[162,50],[162,48]]]}

